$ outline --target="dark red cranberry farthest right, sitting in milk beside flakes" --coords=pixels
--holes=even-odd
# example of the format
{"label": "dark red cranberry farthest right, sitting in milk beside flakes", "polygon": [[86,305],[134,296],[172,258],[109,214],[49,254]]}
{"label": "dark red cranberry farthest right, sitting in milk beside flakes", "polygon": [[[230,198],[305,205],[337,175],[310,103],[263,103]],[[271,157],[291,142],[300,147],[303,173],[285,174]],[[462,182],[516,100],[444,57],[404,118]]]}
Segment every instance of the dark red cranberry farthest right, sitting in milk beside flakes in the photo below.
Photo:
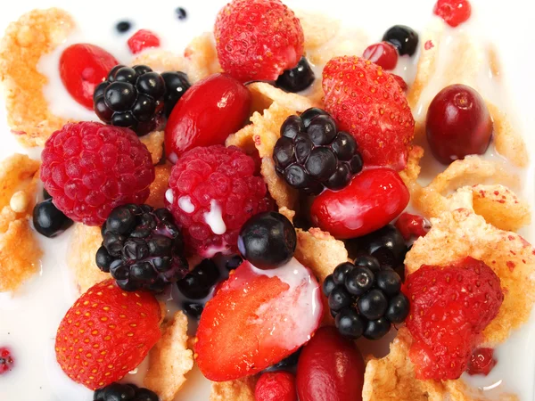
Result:
{"label": "dark red cranberry farthest right, sitting in milk beside flakes", "polygon": [[473,88],[446,86],[429,105],[425,119],[427,141],[443,164],[487,151],[492,120],[485,101]]}

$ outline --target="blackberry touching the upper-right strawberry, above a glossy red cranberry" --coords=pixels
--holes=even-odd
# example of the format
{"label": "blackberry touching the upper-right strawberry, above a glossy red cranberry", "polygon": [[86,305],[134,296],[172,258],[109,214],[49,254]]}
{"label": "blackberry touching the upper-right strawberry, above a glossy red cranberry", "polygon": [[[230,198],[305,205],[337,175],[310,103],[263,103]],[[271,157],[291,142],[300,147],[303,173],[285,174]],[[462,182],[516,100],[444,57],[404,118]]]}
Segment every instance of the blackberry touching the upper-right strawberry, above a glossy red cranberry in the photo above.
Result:
{"label": "blackberry touching the upper-right strawberry, above a glossy red cranberry", "polygon": [[357,148],[353,136],[338,132],[329,113],[312,108],[284,121],[273,160],[277,174],[286,183],[317,195],[325,187],[342,189],[362,170]]}

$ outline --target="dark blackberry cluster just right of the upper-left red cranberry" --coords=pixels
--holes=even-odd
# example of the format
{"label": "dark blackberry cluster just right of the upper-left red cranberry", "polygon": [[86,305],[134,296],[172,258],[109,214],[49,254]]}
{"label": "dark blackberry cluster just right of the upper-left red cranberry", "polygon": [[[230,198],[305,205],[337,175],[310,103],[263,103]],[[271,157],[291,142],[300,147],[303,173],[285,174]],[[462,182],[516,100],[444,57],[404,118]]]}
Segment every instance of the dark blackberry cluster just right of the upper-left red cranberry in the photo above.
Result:
{"label": "dark blackberry cluster just right of the upper-left red cranberry", "polygon": [[183,72],[159,74],[146,65],[116,65],[93,94],[96,115],[106,124],[145,135],[161,124],[161,114],[177,104],[189,88]]}

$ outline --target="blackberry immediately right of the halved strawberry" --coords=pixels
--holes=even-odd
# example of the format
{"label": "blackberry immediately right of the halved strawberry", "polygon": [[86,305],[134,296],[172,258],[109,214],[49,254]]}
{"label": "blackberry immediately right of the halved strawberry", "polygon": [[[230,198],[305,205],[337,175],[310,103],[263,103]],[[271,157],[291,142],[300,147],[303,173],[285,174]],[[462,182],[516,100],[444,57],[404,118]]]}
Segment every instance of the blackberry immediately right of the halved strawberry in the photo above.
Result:
{"label": "blackberry immediately right of the halved strawberry", "polygon": [[409,305],[400,290],[399,274],[371,256],[336,266],[323,284],[336,327],[350,339],[364,335],[379,340],[390,331],[391,323],[402,323]]}

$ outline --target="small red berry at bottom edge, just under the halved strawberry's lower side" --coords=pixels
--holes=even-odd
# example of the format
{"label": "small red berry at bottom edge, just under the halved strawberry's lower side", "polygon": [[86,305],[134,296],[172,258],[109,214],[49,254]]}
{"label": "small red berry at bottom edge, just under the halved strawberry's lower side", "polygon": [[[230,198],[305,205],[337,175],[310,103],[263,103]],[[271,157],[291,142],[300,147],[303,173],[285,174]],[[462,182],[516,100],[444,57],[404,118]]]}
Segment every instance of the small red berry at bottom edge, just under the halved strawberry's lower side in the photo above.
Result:
{"label": "small red berry at bottom edge, just under the halved strawberry's lower side", "polygon": [[295,377],[290,372],[266,372],[257,382],[255,401],[297,401]]}

